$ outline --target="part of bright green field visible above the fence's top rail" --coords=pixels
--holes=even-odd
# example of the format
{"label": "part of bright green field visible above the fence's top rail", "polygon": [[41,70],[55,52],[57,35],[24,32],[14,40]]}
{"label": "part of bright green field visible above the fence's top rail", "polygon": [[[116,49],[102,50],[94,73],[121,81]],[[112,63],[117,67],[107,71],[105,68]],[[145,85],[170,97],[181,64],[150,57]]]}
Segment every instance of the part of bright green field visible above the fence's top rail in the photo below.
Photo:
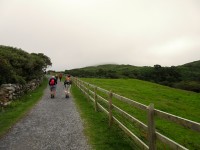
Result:
{"label": "part of bright green field visible above the fence's top rail", "polygon": [[[199,93],[170,88],[137,79],[84,78],[84,80],[145,105],[154,103],[157,109],[200,122]],[[191,112],[193,113],[191,114]]]}

